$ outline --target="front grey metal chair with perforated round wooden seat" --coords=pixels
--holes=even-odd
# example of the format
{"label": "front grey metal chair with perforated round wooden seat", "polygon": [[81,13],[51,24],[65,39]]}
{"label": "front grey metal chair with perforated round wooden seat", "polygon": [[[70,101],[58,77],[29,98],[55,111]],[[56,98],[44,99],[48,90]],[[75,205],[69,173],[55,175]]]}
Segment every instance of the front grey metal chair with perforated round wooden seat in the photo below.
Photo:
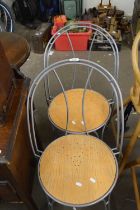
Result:
{"label": "front grey metal chair with perforated round wooden seat", "polygon": [[[86,81],[84,91],[81,92],[81,89],[75,90],[76,94],[77,91],[80,91],[80,94],[82,95],[81,102],[83,106],[80,108],[80,112],[82,112],[83,117],[80,118],[80,126],[82,124],[84,127],[83,135],[81,135],[81,133],[78,134],[77,132],[75,132],[75,134],[71,134],[70,132],[70,134],[67,135],[71,129],[71,124],[69,125],[69,104],[73,103],[73,106],[75,106],[75,104],[77,106],[77,100],[74,98],[69,102],[69,92],[67,93],[67,91],[64,91],[64,86],[60,79],[60,72],[64,67],[64,71],[67,73],[68,65],[73,64],[79,68],[84,66],[89,67],[89,69],[82,69],[84,72],[89,71],[89,76]],[[42,84],[46,76],[49,75],[51,78],[51,73],[53,73],[53,76],[55,76],[58,80],[62,89],[61,91],[63,92],[65,98],[64,113],[60,113],[60,116],[66,114],[67,122],[65,125],[65,136],[61,136],[60,138],[54,140],[43,151],[40,149],[38,144],[37,125],[39,122],[36,122],[35,115],[39,108],[44,108],[44,105],[40,105],[41,97],[44,96],[44,93],[42,93],[44,90]],[[87,86],[90,76],[92,74],[95,75],[95,73],[104,78],[104,80],[108,83],[109,88],[111,89],[111,94],[113,92],[114,95],[114,103],[117,110],[117,120],[115,121],[117,136],[116,139],[112,139],[115,143],[112,147],[111,145],[109,147],[101,139],[88,134],[88,129],[90,128],[88,126],[90,125],[88,125],[88,119],[86,119],[86,112],[89,110],[86,109],[89,108],[86,107],[86,103],[92,103],[92,97],[94,94],[96,95],[96,92],[89,90]],[[52,81],[54,82],[54,77],[52,78]],[[59,95],[57,94],[57,96]],[[89,96],[91,101],[88,99]],[[101,98],[102,97],[103,96],[101,96]],[[39,107],[35,106],[37,99],[39,100]],[[64,99],[62,97],[62,103],[63,100]],[[58,106],[61,106],[61,104],[57,104],[55,108],[57,109]],[[90,105],[91,115],[92,109],[95,107],[96,106],[94,105],[93,107]],[[76,107],[77,112],[79,111],[78,109],[79,107]],[[43,115],[46,115],[46,110],[47,109],[44,111],[42,110]],[[102,110],[101,112],[105,111]],[[92,116],[94,118],[94,115]],[[49,117],[50,116],[48,116],[48,118]],[[74,122],[77,123],[76,119],[72,120],[75,120]],[[41,157],[39,161],[38,175],[40,184],[47,195],[49,207],[52,207],[52,200],[66,206],[73,207],[74,209],[76,207],[86,207],[103,201],[106,209],[109,209],[110,194],[118,178],[118,161],[116,157],[121,155],[124,131],[122,96],[114,77],[106,69],[99,66],[98,64],[82,59],[68,59],[50,65],[48,68],[40,72],[30,87],[27,99],[27,121],[33,153],[35,157]],[[75,125],[75,123],[72,124]],[[45,129],[47,130],[45,121],[44,124]],[[41,129],[40,132],[42,133],[43,129]],[[112,137],[112,135],[109,135],[108,138],[109,137]]]}

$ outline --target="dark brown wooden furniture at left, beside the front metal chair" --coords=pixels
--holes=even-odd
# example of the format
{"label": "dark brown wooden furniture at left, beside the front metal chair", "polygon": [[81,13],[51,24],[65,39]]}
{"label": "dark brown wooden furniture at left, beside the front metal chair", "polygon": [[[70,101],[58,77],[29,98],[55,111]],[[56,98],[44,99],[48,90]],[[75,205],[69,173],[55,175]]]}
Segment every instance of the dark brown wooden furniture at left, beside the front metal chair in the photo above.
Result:
{"label": "dark brown wooden furniture at left, beside the front metal chair", "polygon": [[1,43],[0,74],[0,111],[5,116],[0,122],[0,199],[23,201],[27,209],[37,210],[31,197],[34,160],[26,122],[30,80],[11,69]]}

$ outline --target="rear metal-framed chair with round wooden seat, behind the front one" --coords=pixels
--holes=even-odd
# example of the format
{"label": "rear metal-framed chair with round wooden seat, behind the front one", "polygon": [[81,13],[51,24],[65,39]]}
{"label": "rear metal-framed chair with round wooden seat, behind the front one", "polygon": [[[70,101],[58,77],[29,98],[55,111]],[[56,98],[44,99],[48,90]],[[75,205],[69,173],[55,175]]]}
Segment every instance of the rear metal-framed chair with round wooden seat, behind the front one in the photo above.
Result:
{"label": "rear metal-framed chair with round wooden seat, behind the front one", "polygon": [[[88,52],[88,60],[91,59],[91,52],[92,52],[92,46],[93,44],[95,43],[96,41],[96,37],[98,36],[102,36],[104,37],[108,43],[110,44],[111,46],[111,49],[113,51],[113,54],[114,54],[114,72],[112,72],[113,76],[118,79],[118,71],[119,71],[119,55],[118,55],[118,48],[116,46],[116,43],[114,41],[114,39],[112,38],[112,36],[107,32],[105,31],[104,29],[102,29],[101,27],[97,26],[97,25],[94,25],[94,24],[91,24],[91,23],[75,23],[75,24],[72,24],[72,25],[68,25],[62,29],[60,29],[52,38],[51,40],[49,41],[47,47],[46,47],[46,50],[45,50],[45,54],[44,54],[44,66],[49,66],[50,63],[49,63],[49,59],[50,59],[50,52],[52,50],[52,47],[55,43],[55,41],[57,41],[57,39],[61,38],[61,36],[63,36],[64,34],[66,34],[66,38],[67,38],[67,41],[70,45],[70,48],[71,48],[71,54],[72,54],[72,58],[73,59],[78,59],[76,58],[76,52],[74,50],[74,46],[73,46],[73,43],[72,43],[72,40],[69,36],[69,31],[71,29],[77,29],[77,28],[86,28],[86,29],[89,29],[91,31],[94,30],[94,36],[93,36],[93,39],[91,41],[91,45],[90,45],[90,49],[89,49],[89,52]],[[78,106],[78,104],[81,103],[81,96],[82,96],[82,92],[83,92],[83,89],[77,89],[75,90],[76,88],[76,82],[77,82],[77,79],[78,79],[78,76],[77,76],[77,72],[78,72],[78,66],[76,65],[72,65],[72,72],[73,72],[73,77],[72,77],[72,82],[71,82],[71,90],[69,90],[67,93],[68,93],[68,98],[69,98],[69,106],[71,107],[70,108],[70,119],[71,119],[71,126],[68,125],[69,127],[69,132],[70,133],[83,133],[84,130],[83,130],[83,120],[81,119],[81,114],[79,115],[79,112],[75,112],[74,110],[76,110],[76,107],[73,109],[72,107],[72,104],[73,104],[73,100],[76,100],[76,99],[79,99],[77,101],[77,109],[79,109],[78,107],[80,107],[80,105]],[[88,71],[87,71],[87,74],[89,72],[89,67],[88,68]],[[52,90],[51,90],[51,86],[50,86],[50,78],[49,76],[47,76],[45,78],[45,85],[44,85],[44,88],[45,88],[45,92],[46,92],[46,100],[48,102],[48,104],[50,105],[50,108],[49,108],[49,117],[50,117],[50,121],[52,122],[52,124],[57,127],[58,129],[60,130],[65,130],[66,126],[66,116],[64,116],[64,119],[60,119],[59,116],[61,116],[61,114],[63,113],[63,110],[65,108],[65,102],[64,100],[62,100],[63,98],[63,94],[59,94],[57,97],[54,98],[53,94],[52,94]],[[91,81],[89,81],[89,88],[92,90],[92,84],[91,84]],[[94,113],[92,113],[92,115],[94,115],[94,118],[91,117],[91,113],[87,113],[86,114],[86,118],[88,118],[88,132],[93,132],[93,131],[96,131],[100,128],[103,128],[104,129],[104,125],[107,123],[108,119],[109,119],[109,116],[110,116],[110,105],[109,103],[112,103],[113,104],[113,96],[111,96],[111,98],[109,99],[109,102],[106,98],[102,97],[98,92],[93,92],[92,91],[88,91],[88,96],[87,96],[87,102],[88,103],[88,110],[91,109],[91,104],[92,104],[92,101],[93,100],[96,100],[97,101],[97,104],[96,106],[98,108],[95,108],[93,109],[94,110]],[[60,104],[61,102],[61,107],[60,106],[57,106],[58,104]],[[90,103],[91,102],[91,103]],[[58,107],[56,109],[55,107]],[[103,110],[104,109],[104,114],[102,114],[102,116],[98,113],[98,110]],[[96,110],[96,111],[95,111]],[[60,115],[58,116],[58,113],[60,113]],[[96,113],[96,114],[95,114]],[[95,115],[96,115],[96,119],[98,118],[97,116],[100,115],[101,118],[96,121],[95,123]],[[76,117],[75,117],[76,116]],[[74,120],[74,118],[76,118],[76,121],[80,121],[80,124],[76,123],[76,121]],[[94,120],[93,120],[94,119]],[[92,120],[94,121],[94,123],[92,122]],[[93,124],[95,125],[93,127]],[[80,125],[80,126],[79,126]]]}

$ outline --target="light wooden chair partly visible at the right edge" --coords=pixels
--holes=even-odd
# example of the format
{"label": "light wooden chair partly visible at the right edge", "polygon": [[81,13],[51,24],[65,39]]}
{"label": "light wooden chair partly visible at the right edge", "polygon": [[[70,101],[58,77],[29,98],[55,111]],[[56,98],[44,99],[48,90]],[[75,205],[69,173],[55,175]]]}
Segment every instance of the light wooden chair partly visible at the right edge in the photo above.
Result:
{"label": "light wooden chair partly visible at the right edge", "polygon": [[[139,157],[135,160],[128,161],[130,155],[133,152],[134,146],[136,145],[137,140],[140,137],[140,69],[138,64],[138,50],[140,43],[140,32],[136,35],[132,47],[132,64],[134,71],[134,85],[130,90],[130,96],[125,100],[124,106],[126,106],[126,110],[130,110],[133,107],[135,109],[137,115],[137,122],[135,128],[133,128],[133,133],[130,137],[129,143],[126,146],[124,151],[124,155],[120,164],[120,175],[123,173],[125,169],[130,168],[132,172],[133,185],[135,191],[135,198],[137,203],[137,209],[140,210],[140,197],[138,191],[138,181],[136,177],[136,169],[140,167],[140,159]],[[125,123],[128,120],[130,112],[125,116]]]}

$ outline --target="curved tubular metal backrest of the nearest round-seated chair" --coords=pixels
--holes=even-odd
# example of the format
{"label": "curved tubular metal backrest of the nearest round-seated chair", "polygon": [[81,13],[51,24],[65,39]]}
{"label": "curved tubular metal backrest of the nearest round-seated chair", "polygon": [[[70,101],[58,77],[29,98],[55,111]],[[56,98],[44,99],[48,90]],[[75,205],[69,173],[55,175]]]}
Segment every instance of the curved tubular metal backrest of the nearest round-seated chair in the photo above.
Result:
{"label": "curved tubular metal backrest of the nearest round-seated chair", "polygon": [[[71,67],[72,65],[75,65],[77,68],[81,68],[81,71],[83,71],[84,73],[86,72],[85,75],[86,76],[86,80],[84,83],[84,91],[83,91],[83,95],[82,95],[82,118],[83,118],[83,126],[85,128],[85,133],[88,134],[88,131],[86,129],[86,121],[85,121],[85,104],[84,104],[84,100],[86,97],[86,92],[88,91],[88,83],[91,79],[92,74],[95,75],[95,73],[98,76],[101,76],[102,79],[104,80],[104,85],[102,86],[103,89],[105,89],[105,84],[108,85],[110,92],[114,94],[114,103],[115,103],[115,107],[116,107],[116,113],[117,116],[115,119],[117,119],[116,122],[116,129],[117,129],[117,136],[116,136],[116,141],[115,141],[115,146],[113,146],[112,150],[114,151],[115,154],[120,154],[122,151],[122,144],[123,144],[123,131],[124,131],[124,117],[123,117],[123,102],[122,102],[122,95],[121,95],[121,91],[120,88],[116,82],[116,80],[114,79],[114,77],[103,67],[101,67],[100,65],[88,61],[88,60],[84,60],[84,59],[67,59],[67,60],[62,60],[59,61],[57,63],[54,63],[50,66],[48,66],[47,68],[45,68],[42,72],[40,72],[40,74],[35,78],[35,80],[33,81],[31,87],[30,87],[30,91],[29,91],[29,95],[28,95],[28,99],[27,99],[27,119],[28,119],[28,129],[29,129],[29,136],[30,136],[30,141],[31,141],[31,146],[34,152],[34,155],[36,157],[40,157],[42,151],[39,149],[38,147],[38,143],[37,143],[37,135],[36,135],[36,110],[38,110],[38,108],[36,107],[36,99],[39,101],[39,108],[43,109],[44,111],[42,111],[43,115],[47,115],[46,112],[48,111],[48,109],[45,109],[45,106],[48,106],[48,104],[45,102],[45,104],[43,104],[42,106],[40,106],[42,101],[42,84],[44,82],[44,79],[46,77],[52,78],[50,80],[50,83],[52,83],[52,85],[54,85],[54,89],[56,90],[56,95],[58,94],[58,90],[56,88],[56,81],[54,81],[54,78],[56,78],[58,85],[60,86],[60,92],[63,93],[63,98],[65,100],[65,106],[66,106],[66,118],[67,118],[67,123],[66,123],[66,129],[65,129],[65,135],[68,134],[68,122],[69,122],[69,107],[68,107],[68,98],[67,98],[67,94],[65,91],[65,85],[63,84],[63,76],[61,76],[61,71],[62,69],[64,70],[64,72],[66,73],[66,75],[68,74],[68,68]],[[86,67],[86,68],[85,68]],[[88,67],[88,68],[87,68]],[[52,75],[54,77],[52,77]],[[66,78],[66,80],[69,79]],[[102,80],[101,80],[102,81]],[[68,81],[67,81],[68,82]],[[99,82],[96,80],[95,83],[97,83],[99,86],[101,84],[99,84]],[[44,89],[43,89],[44,90]],[[108,90],[107,90],[107,94],[108,94]],[[38,92],[39,91],[39,92]],[[43,94],[44,95],[44,94]],[[74,103],[77,103],[77,101],[75,101]],[[61,106],[61,103],[60,103]],[[48,118],[47,118],[48,119]],[[44,124],[46,125],[46,121],[44,121]],[[45,130],[47,130],[47,128],[44,128]],[[41,131],[42,132],[42,131]],[[49,130],[47,130],[47,132],[49,132]],[[47,138],[47,136],[45,137]],[[117,152],[116,152],[117,151]]]}

